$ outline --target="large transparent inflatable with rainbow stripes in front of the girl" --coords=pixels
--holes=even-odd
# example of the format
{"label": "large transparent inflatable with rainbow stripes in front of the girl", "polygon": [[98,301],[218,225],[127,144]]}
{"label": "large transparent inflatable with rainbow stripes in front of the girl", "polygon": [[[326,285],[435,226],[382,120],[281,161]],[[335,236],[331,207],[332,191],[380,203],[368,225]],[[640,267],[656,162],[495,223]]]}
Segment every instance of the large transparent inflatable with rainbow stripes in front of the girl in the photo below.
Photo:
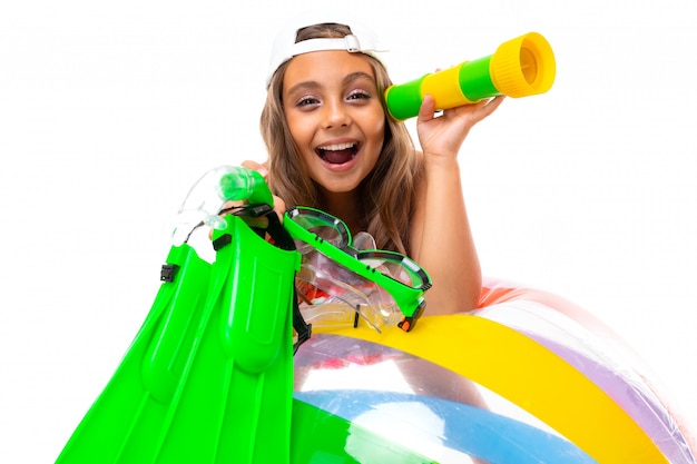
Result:
{"label": "large transparent inflatable with rainbow stripes in front of the girl", "polygon": [[411,333],[315,334],[295,356],[294,463],[695,464],[639,357],[556,295],[485,282]]}

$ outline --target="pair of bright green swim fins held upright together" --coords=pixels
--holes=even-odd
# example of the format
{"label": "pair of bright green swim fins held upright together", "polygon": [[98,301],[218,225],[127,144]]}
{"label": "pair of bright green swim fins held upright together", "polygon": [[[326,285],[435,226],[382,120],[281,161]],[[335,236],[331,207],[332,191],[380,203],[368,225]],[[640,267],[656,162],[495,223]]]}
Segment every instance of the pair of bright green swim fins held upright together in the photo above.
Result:
{"label": "pair of bright green swim fins held upright together", "polygon": [[57,463],[288,463],[300,255],[226,221],[213,265],[171,248],[171,282]]}

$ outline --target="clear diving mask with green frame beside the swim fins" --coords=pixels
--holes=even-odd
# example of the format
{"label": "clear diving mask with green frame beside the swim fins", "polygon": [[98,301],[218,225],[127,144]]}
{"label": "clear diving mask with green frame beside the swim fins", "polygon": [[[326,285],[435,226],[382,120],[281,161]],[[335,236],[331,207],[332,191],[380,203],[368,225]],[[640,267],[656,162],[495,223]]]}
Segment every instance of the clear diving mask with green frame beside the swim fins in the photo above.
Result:
{"label": "clear diving mask with green frame beside the swim fins", "polygon": [[[424,294],[431,287],[429,275],[414,260],[395,251],[356,249],[346,224],[320,209],[291,208],[283,225],[303,255],[296,278],[300,293],[307,296],[310,287],[318,290],[320,298],[306,298],[313,310],[324,310],[325,317],[332,312],[338,315],[336,305],[322,306],[322,299],[330,297],[327,303],[345,304],[344,316],[357,314],[376,329],[395,324],[411,330],[423,313]],[[396,305],[399,314],[390,303]],[[313,315],[304,313],[304,317],[311,322]]]}

